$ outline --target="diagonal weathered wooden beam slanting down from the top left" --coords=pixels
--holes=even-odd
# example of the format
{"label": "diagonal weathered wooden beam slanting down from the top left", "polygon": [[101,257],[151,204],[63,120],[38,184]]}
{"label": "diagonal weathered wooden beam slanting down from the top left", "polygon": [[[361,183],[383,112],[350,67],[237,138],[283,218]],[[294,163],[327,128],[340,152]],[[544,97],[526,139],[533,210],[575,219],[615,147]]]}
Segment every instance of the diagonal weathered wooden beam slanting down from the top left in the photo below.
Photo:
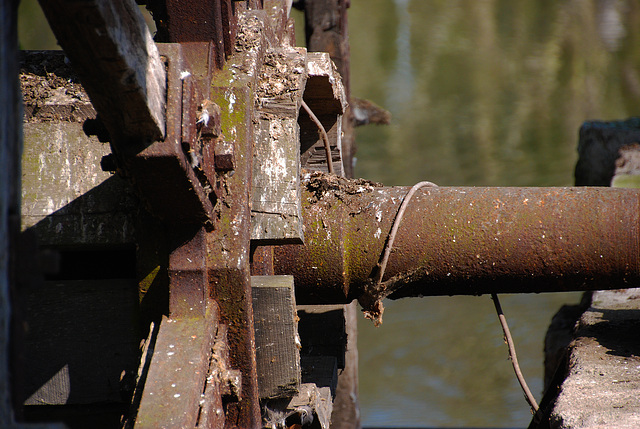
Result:
{"label": "diagonal weathered wooden beam slanting down from the top left", "polygon": [[165,135],[166,74],[132,0],[40,0],[58,43],[116,142]]}

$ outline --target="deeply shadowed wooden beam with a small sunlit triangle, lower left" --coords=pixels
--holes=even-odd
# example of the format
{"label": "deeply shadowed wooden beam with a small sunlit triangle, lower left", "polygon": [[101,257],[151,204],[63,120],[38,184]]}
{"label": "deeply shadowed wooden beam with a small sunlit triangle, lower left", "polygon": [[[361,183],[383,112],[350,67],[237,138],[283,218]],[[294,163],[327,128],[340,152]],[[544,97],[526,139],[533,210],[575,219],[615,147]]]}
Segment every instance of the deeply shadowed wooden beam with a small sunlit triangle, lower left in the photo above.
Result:
{"label": "deeply shadowed wooden beam with a small sunlit triangle, lower left", "polygon": [[133,374],[138,361],[135,280],[53,281],[22,295],[24,405],[122,402],[122,374]]}

